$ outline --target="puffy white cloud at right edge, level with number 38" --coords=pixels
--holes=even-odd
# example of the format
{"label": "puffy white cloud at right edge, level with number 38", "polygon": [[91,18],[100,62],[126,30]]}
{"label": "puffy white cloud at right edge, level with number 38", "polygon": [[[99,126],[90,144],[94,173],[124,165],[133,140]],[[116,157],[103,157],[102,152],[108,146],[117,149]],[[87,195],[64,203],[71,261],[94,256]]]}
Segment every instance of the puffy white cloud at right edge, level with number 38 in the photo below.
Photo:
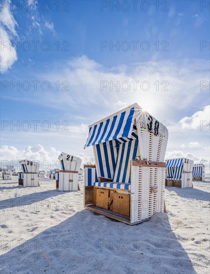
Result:
{"label": "puffy white cloud at right edge, level with number 38", "polygon": [[203,111],[198,111],[190,117],[184,117],[179,122],[183,129],[209,130],[210,127],[210,105],[204,107]]}

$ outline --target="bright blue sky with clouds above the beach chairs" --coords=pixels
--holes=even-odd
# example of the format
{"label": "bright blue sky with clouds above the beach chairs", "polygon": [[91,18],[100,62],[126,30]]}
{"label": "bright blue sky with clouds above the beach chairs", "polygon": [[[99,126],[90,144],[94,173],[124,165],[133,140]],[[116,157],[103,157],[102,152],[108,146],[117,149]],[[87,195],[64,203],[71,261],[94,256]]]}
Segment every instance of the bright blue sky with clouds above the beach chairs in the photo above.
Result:
{"label": "bright blue sky with clouds above the beach chairs", "polygon": [[[2,159],[54,162],[66,151],[93,161],[92,148],[83,150],[88,125],[136,102],[167,121],[166,157],[209,160],[209,3],[135,5],[1,1],[1,121],[8,121],[1,127]],[[110,81],[118,81],[119,90],[111,90]],[[121,86],[124,81],[128,90]],[[136,90],[131,81],[138,81]],[[148,90],[141,86],[144,81]],[[12,83],[19,90],[12,90]],[[36,131],[34,120],[40,121]],[[20,121],[19,131],[11,131],[11,121]],[[30,130],[22,129],[23,121],[30,122]],[[49,131],[43,121],[51,125]],[[67,125],[63,121],[69,131],[61,130]],[[202,131],[201,121],[207,121]]]}

